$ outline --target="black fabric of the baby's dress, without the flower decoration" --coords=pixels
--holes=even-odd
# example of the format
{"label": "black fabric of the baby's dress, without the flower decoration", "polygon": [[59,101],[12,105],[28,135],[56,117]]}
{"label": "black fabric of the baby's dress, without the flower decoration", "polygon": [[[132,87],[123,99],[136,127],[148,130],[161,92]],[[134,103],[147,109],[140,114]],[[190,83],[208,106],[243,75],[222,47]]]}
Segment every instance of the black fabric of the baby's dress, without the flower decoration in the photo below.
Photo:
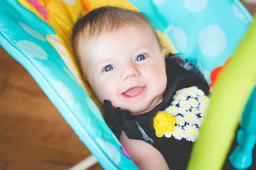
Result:
{"label": "black fabric of the baby's dress, without the flower decoration", "polygon": [[105,120],[117,138],[120,137],[120,131],[124,131],[127,138],[140,139],[157,148],[170,169],[186,169],[193,142],[185,138],[175,139],[173,136],[157,137],[153,126],[154,117],[157,112],[166,110],[170,106],[178,90],[196,87],[208,95],[209,86],[200,71],[179,55],[166,57],[166,75],[168,81],[163,101],[151,111],[132,116],[129,111],[111,108],[111,103],[104,101]]}

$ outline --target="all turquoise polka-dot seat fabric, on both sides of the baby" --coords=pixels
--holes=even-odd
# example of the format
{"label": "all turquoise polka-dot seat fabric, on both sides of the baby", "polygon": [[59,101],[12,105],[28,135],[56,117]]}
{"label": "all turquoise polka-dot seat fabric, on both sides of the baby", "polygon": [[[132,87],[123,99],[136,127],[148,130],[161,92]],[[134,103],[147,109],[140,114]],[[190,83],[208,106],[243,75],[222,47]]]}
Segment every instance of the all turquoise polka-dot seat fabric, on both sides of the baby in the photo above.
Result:
{"label": "all turquoise polka-dot seat fabric, on both sides of the baby", "polygon": [[[147,15],[172,41],[175,52],[191,60],[209,83],[211,71],[232,56],[252,22],[239,1],[129,2]],[[49,35],[56,31],[17,0],[0,1],[1,46],[26,67],[104,169],[137,169],[47,39]]]}

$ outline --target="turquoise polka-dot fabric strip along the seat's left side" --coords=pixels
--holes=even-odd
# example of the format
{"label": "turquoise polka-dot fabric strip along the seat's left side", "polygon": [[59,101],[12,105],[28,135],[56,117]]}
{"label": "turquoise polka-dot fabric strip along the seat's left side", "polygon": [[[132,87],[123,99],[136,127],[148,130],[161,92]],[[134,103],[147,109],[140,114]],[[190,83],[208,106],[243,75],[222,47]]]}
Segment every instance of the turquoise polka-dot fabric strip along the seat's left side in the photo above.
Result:
{"label": "turquoise polka-dot fabric strip along the seat's left side", "polygon": [[26,67],[104,169],[137,169],[58,52],[56,32],[18,1],[0,1],[0,44]]}

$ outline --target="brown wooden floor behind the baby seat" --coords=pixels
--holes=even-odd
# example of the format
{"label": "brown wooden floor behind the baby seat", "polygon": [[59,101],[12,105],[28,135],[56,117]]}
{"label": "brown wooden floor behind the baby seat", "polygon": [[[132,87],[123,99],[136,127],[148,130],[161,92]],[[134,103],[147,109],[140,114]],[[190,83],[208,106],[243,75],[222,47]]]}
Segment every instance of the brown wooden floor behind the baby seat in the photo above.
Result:
{"label": "brown wooden floor behind the baby seat", "polygon": [[0,170],[68,169],[90,154],[26,69],[0,46]]}

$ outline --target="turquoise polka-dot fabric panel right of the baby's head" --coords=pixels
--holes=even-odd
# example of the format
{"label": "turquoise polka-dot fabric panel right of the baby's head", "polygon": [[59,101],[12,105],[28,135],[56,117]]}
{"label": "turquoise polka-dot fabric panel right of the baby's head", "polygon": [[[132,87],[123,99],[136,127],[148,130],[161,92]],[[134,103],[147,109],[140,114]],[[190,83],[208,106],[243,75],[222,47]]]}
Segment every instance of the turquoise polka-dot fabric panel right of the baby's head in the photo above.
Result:
{"label": "turquoise polka-dot fabric panel right of the baby's head", "polygon": [[239,1],[129,0],[172,41],[176,53],[204,73],[223,66],[241,41],[252,16]]}

